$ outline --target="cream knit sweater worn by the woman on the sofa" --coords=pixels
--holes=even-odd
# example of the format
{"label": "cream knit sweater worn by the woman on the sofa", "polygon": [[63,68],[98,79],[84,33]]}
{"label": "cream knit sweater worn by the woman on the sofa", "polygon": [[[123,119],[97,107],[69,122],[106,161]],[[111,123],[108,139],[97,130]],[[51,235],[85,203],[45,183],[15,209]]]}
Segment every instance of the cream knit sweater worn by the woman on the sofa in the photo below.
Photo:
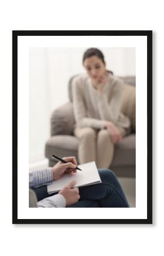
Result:
{"label": "cream knit sweater worn by the woman on the sofa", "polygon": [[128,117],[120,113],[123,86],[121,80],[110,75],[103,94],[100,94],[87,75],[76,76],[72,81],[76,127],[102,129],[105,121],[123,128],[130,127]]}

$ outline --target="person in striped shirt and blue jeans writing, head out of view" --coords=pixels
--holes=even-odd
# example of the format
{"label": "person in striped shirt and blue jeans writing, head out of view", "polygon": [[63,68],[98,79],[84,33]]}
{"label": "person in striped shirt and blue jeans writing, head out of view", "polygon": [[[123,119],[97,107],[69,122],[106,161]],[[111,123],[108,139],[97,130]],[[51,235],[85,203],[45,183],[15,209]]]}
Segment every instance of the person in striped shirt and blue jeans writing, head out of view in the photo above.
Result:
{"label": "person in striped shirt and blue jeans writing, head out of view", "polygon": [[[74,156],[63,158],[53,168],[45,168],[29,173],[30,192],[33,189],[36,199],[32,204],[29,197],[29,207],[129,207],[123,189],[118,179],[110,170],[98,170],[102,183],[75,188],[73,180],[58,193],[49,195],[47,185],[53,180],[60,179],[63,175],[75,175],[77,162]],[[76,175],[75,175],[76,176]]]}

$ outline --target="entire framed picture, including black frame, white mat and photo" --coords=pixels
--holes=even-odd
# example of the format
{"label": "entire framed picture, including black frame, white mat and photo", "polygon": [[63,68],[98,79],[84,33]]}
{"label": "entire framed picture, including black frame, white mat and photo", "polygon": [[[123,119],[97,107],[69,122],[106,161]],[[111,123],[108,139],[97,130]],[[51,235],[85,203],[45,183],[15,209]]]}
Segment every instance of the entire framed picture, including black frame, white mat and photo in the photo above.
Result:
{"label": "entire framed picture, including black frame, white mat and photo", "polygon": [[[51,155],[91,162],[79,149],[86,127],[84,158],[102,183],[67,187],[76,200],[42,196],[56,177]],[[152,224],[152,31],[12,31],[12,223]]]}

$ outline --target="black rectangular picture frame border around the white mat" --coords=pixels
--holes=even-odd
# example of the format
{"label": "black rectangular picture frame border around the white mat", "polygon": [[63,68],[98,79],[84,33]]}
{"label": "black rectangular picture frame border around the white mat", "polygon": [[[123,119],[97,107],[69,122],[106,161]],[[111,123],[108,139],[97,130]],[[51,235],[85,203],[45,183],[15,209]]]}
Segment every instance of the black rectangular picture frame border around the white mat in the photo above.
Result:
{"label": "black rectangular picture frame border around the white mat", "polygon": [[[152,31],[12,31],[12,224],[152,224]],[[18,218],[18,36],[146,36],[147,38],[147,218]],[[149,85],[149,86],[148,86]]]}

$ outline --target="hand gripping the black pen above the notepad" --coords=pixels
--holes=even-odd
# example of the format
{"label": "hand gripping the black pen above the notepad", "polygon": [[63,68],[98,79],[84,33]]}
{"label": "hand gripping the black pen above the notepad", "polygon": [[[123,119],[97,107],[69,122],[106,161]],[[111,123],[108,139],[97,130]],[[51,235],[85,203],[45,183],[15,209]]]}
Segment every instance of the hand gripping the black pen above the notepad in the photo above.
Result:
{"label": "hand gripping the black pen above the notepad", "polygon": [[63,160],[65,160],[68,163],[58,162],[52,168],[53,180],[60,179],[64,174],[68,174],[71,176],[77,172],[76,170],[77,162],[74,156],[63,158]]}

